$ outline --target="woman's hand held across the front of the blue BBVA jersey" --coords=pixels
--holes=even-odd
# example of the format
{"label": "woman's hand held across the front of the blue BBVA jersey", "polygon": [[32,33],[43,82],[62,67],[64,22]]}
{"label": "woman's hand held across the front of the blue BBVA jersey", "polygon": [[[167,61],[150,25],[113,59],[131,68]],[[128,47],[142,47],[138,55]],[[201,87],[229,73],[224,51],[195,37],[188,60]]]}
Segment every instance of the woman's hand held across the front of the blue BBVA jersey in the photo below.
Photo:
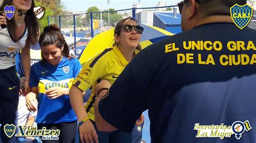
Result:
{"label": "woman's hand held across the front of the blue BBVA jersey", "polygon": [[55,99],[58,98],[64,94],[69,94],[68,88],[62,88],[62,87],[52,87],[44,92],[45,95],[49,97],[49,99]]}

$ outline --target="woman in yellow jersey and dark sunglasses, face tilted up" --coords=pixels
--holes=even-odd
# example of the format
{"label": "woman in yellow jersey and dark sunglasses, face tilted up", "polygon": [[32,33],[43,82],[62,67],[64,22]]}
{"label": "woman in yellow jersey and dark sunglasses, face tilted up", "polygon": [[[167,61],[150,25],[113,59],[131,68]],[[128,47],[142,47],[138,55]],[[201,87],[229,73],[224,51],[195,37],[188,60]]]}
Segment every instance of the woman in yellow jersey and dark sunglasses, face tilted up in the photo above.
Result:
{"label": "woman in yellow jersey and dark sunglasses, face tilted up", "polygon": [[[97,93],[95,93],[93,87],[101,80],[107,80],[111,84],[116,81],[119,74],[141,49],[139,41],[142,32],[143,27],[139,26],[133,18],[121,20],[114,30],[115,42],[113,47],[106,48],[102,53],[98,53],[87,61],[75,81],[73,81],[69,95],[71,106],[79,120],[80,141],[131,142],[131,133],[122,131],[100,132],[97,130],[93,108]],[[91,86],[91,96],[84,108],[82,92]],[[140,119],[137,124],[142,122],[143,119]]]}

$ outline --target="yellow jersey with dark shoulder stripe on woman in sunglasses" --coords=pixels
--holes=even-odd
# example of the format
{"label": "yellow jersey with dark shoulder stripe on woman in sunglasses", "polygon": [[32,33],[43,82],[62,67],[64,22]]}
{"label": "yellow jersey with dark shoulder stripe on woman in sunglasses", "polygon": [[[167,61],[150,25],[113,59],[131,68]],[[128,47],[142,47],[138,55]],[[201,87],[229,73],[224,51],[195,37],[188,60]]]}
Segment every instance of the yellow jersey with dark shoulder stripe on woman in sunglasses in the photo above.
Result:
{"label": "yellow jersey with dark shoulder stripe on woman in sunglasses", "polygon": [[[136,49],[134,54],[138,52]],[[98,53],[87,61],[75,81],[73,81],[73,84],[83,91],[92,86],[91,96],[85,105],[87,115],[91,120],[95,120],[93,104],[96,96],[93,87],[100,80],[107,80],[112,85],[128,63],[117,46],[106,48],[102,53]]]}

